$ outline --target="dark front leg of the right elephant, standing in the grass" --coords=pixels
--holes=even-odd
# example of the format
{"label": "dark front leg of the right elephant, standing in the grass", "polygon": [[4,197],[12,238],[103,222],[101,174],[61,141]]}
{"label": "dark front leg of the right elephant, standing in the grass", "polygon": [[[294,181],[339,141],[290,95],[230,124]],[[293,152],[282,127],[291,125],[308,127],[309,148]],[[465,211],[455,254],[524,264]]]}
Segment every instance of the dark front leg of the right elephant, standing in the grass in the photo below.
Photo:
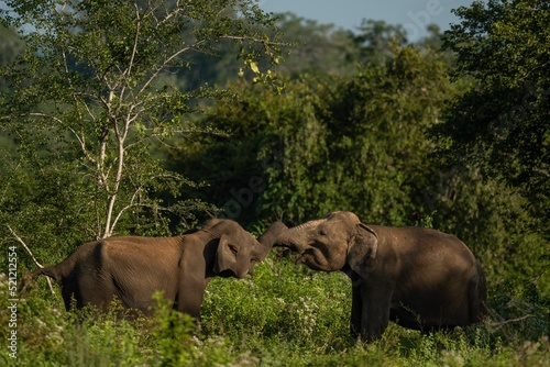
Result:
{"label": "dark front leg of the right elephant, standing in the grass", "polygon": [[392,288],[387,285],[366,285],[361,291],[361,337],[372,342],[382,337],[389,322]]}

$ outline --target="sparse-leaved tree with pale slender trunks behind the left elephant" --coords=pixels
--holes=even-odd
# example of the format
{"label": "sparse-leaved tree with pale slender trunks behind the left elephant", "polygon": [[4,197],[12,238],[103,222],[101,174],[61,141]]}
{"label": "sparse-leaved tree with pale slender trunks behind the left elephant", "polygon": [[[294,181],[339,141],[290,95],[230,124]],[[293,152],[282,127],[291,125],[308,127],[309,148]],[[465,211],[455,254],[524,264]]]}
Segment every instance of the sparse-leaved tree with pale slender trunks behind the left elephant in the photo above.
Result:
{"label": "sparse-leaved tree with pale slender trunks behind the left elephant", "polygon": [[[197,184],[164,169],[155,146],[175,134],[200,132],[189,123],[200,112],[199,101],[226,93],[200,82],[182,90],[175,80],[193,67],[191,55],[215,54],[223,40],[239,47],[243,68],[265,80],[257,62],[278,55],[278,45],[265,36],[274,20],[249,0],[7,4],[1,23],[20,32],[25,49],[0,70],[9,86],[0,97],[0,121],[26,168],[19,165],[11,174],[28,175],[34,190],[45,191],[32,194],[35,215],[78,218],[86,233],[107,237],[119,226],[135,231],[151,222],[158,233],[166,226],[164,212],[185,219],[207,210],[189,200],[163,205],[160,193]],[[1,207],[21,207],[13,190]],[[64,211],[44,210],[56,205]]]}

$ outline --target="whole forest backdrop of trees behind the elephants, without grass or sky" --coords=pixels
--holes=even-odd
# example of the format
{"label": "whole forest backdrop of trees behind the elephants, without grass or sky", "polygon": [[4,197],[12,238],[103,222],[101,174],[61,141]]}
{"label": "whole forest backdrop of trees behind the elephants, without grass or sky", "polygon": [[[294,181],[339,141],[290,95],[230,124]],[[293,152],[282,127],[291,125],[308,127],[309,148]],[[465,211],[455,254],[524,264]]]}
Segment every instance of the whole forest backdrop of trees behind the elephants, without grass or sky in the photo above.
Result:
{"label": "whole forest backdrop of trees behind the elephants, without grass or sky", "polygon": [[[240,43],[213,26],[186,38],[194,52],[147,86],[162,101],[135,93],[118,108],[123,99],[102,101],[98,84],[117,75],[101,63],[130,57],[128,37],[109,56],[80,43],[88,59],[97,51],[99,66],[67,42],[57,65],[63,24],[36,34],[1,27],[2,244],[15,244],[16,233],[53,264],[82,242],[178,234],[211,216],[258,234],[277,219],[296,225],[349,210],[365,223],[455,234],[486,269],[496,315],[522,316],[508,308],[521,300],[547,329],[550,5],[474,2],[457,10],[459,24],[430,26],[415,43],[382,21],[346,31],[252,10]],[[112,26],[105,14],[92,26]],[[215,42],[204,47],[201,36]],[[140,75],[124,82],[140,89]],[[75,98],[96,90],[103,109]],[[155,113],[131,120],[120,153],[114,113],[141,105]],[[24,252],[19,260],[20,270],[35,267]]]}

